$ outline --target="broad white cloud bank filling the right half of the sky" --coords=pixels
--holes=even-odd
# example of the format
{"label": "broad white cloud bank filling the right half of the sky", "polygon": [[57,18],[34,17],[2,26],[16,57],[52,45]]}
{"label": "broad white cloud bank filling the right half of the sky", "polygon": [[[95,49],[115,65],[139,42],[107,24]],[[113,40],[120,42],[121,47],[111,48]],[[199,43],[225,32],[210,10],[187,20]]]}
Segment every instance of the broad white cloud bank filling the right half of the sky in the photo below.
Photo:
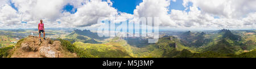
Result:
{"label": "broad white cloud bank filling the right half of the sky", "polygon": [[[159,17],[160,25],[164,27],[254,28],[256,20],[254,2],[250,0],[184,0],[185,10],[168,10],[170,0],[143,0],[134,10],[134,16]],[[192,3],[191,6],[189,6],[190,3]],[[170,14],[168,11],[171,11]]]}

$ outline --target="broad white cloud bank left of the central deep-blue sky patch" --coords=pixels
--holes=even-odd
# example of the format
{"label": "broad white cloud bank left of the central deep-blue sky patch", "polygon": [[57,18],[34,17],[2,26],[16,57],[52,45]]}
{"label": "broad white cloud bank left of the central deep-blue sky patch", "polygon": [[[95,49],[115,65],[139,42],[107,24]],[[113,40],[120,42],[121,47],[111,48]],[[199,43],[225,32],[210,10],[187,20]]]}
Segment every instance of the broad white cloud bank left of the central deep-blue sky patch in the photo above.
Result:
{"label": "broad white cloud bank left of the central deep-blue sky patch", "polygon": [[[9,2],[14,3],[15,7],[11,7]],[[63,12],[63,7],[67,4],[77,8],[77,12]],[[36,28],[33,25],[37,25],[39,20],[43,19],[48,28],[86,27],[96,24],[100,17],[121,16],[111,7],[112,4],[110,0],[11,0],[5,1],[5,5],[0,7],[0,22],[5,25],[21,24],[22,26],[19,25],[18,28]]]}

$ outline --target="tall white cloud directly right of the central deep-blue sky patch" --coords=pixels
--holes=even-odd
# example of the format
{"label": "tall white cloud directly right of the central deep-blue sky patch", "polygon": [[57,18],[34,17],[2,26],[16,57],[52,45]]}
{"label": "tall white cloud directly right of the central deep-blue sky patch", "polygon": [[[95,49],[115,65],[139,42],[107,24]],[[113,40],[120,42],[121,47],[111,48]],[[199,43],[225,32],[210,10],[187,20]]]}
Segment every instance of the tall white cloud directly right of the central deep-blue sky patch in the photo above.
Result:
{"label": "tall white cloud directly right of the central deep-blue sky patch", "polygon": [[170,0],[143,0],[134,10],[134,16],[141,17],[159,17],[160,25],[175,26],[175,23],[168,15],[168,6]]}

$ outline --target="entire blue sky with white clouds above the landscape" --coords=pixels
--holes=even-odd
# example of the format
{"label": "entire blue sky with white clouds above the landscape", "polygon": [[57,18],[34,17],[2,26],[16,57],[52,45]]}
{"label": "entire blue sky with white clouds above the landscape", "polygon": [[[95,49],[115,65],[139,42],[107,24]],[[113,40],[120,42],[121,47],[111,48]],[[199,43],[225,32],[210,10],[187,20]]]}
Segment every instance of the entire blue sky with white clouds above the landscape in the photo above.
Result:
{"label": "entire blue sky with white clouds above the landscape", "polygon": [[[161,29],[255,29],[255,0],[1,0],[0,29],[97,28],[101,17],[139,23],[158,17]],[[114,18],[114,19],[113,19]]]}

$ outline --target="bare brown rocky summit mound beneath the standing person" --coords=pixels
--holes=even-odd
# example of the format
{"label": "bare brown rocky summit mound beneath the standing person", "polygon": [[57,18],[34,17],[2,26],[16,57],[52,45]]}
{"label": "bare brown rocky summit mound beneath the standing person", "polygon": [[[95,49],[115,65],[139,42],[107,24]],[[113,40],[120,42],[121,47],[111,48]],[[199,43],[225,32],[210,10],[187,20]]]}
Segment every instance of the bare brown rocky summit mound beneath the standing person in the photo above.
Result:
{"label": "bare brown rocky summit mound beneath the standing person", "polygon": [[28,36],[17,43],[14,48],[13,58],[72,58],[75,53],[70,53],[61,46],[60,41],[52,41],[50,38],[39,41],[37,36]]}

